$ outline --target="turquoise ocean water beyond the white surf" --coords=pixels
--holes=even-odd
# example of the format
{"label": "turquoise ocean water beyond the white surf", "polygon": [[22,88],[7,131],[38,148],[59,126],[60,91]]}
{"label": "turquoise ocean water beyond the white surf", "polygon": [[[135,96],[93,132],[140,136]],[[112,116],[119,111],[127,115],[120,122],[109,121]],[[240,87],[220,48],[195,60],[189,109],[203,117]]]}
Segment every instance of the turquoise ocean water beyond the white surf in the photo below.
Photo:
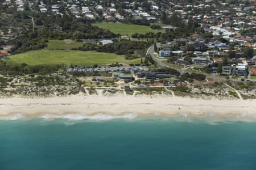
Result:
{"label": "turquoise ocean water beyond the white surf", "polygon": [[0,121],[0,169],[256,169],[256,123]]}

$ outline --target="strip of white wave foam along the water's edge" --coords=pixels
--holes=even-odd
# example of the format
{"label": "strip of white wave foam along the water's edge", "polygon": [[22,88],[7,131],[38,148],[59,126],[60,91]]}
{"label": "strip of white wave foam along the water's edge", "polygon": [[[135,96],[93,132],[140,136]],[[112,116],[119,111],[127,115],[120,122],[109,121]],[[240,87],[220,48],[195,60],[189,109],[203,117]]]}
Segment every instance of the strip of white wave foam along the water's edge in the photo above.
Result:
{"label": "strip of white wave foam along the water's edge", "polygon": [[[9,116],[0,116],[0,121],[15,121],[20,119],[27,118],[26,115],[23,114],[11,114]],[[71,121],[80,121],[80,120],[93,120],[93,121],[108,121],[108,120],[115,120],[115,119],[126,119],[126,120],[144,120],[144,119],[162,119],[162,120],[175,120],[175,121],[182,121],[182,122],[194,122],[194,121],[204,121],[208,122],[209,124],[217,124],[220,122],[256,122],[256,116],[250,115],[247,113],[241,113],[241,114],[235,114],[234,116],[228,116],[228,117],[222,117],[218,116],[217,114],[213,112],[209,112],[206,114],[206,116],[202,117],[193,117],[188,113],[181,112],[179,116],[163,116],[159,112],[155,112],[151,116],[139,116],[137,113],[123,113],[119,115],[113,115],[113,114],[105,114],[105,113],[97,113],[93,115],[89,114],[82,114],[82,113],[71,113],[71,114],[40,114],[36,117],[31,118],[41,118],[46,121],[52,121],[55,119],[64,119],[64,120],[71,120]]]}

